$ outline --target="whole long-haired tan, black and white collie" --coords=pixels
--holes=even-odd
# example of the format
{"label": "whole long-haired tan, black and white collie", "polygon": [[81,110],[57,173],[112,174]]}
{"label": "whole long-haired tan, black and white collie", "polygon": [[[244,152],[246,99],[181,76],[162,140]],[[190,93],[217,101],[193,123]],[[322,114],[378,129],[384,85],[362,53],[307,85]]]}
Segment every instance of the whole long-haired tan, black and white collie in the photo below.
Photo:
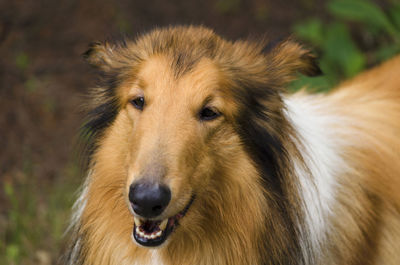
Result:
{"label": "whole long-haired tan, black and white collie", "polygon": [[85,58],[101,84],[64,264],[400,264],[400,57],[291,95],[320,72],[292,40],[170,27]]}

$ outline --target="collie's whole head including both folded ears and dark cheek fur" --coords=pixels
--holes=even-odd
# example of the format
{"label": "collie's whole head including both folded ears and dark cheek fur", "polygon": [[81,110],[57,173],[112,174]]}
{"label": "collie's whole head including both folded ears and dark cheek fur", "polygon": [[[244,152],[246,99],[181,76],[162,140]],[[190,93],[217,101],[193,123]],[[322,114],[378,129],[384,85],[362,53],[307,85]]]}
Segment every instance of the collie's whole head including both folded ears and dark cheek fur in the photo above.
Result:
{"label": "collie's whole head including both folded ears and dark cheek fur", "polygon": [[[105,80],[88,122],[97,137],[96,181],[124,201],[121,211],[133,215],[123,214],[124,226],[145,247],[172,240],[175,231],[193,232],[212,217],[204,211],[223,212],[215,195],[246,183],[255,163],[267,160],[274,174],[273,148],[285,126],[282,88],[297,71],[318,70],[292,42],[264,54],[261,46],[195,27],[95,44],[86,57]],[[269,135],[265,147],[265,137],[253,134],[259,128]]]}

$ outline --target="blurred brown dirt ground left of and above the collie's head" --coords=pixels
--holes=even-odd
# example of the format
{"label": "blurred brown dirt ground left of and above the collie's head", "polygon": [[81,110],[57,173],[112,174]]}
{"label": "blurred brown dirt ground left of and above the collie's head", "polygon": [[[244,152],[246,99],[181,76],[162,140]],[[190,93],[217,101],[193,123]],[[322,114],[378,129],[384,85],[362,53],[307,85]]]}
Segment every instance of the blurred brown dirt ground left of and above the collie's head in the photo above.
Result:
{"label": "blurred brown dirt ground left of and above the collie's head", "polygon": [[75,143],[95,79],[81,57],[90,42],[189,23],[231,39],[275,39],[324,16],[324,3],[0,0],[0,263],[55,262],[83,176]]}

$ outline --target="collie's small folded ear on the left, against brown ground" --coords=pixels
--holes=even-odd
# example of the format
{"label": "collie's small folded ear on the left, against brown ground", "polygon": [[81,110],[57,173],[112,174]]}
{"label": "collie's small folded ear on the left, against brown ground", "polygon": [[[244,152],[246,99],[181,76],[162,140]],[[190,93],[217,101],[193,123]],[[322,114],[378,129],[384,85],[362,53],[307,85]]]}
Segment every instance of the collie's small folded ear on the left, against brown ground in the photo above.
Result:
{"label": "collie's small folded ear on the left, against brown ground", "polygon": [[113,68],[115,46],[108,42],[93,42],[83,54],[83,58],[94,68],[108,72]]}

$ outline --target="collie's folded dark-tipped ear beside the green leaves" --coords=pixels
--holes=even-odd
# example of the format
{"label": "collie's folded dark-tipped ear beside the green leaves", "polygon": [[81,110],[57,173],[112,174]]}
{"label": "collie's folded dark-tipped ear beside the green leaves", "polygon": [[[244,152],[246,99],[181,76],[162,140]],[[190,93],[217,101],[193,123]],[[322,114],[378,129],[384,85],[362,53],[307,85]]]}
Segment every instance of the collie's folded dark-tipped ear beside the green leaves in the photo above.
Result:
{"label": "collie's folded dark-tipped ear beside the green leaves", "polygon": [[291,40],[282,41],[274,47],[269,47],[267,58],[274,74],[291,80],[296,73],[307,76],[322,74],[318,66],[316,56],[300,44]]}

